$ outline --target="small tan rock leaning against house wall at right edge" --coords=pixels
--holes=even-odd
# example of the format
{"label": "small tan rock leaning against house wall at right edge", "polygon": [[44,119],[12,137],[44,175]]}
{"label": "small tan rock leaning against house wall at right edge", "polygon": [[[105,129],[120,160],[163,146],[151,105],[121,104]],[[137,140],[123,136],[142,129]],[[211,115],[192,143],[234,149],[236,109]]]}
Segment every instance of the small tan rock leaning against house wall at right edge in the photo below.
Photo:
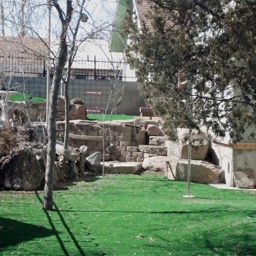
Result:
{"label": "small tan rock leaning against house wall at right edge", "polygon": [[254,189],[254,170],[242,170],[239,172],[234,172],[233,177],[235,180],[236,187],[243,189]]}

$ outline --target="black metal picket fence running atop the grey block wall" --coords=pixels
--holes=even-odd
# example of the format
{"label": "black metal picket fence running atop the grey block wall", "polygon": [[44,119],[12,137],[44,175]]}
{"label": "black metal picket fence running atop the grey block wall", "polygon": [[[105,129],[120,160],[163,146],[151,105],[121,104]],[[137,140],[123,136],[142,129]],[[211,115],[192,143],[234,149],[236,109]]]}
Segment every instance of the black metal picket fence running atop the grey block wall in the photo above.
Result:
{"label": "black metal picket fence running atop the grey block wall", "polygon": [[[66,71],[67,69],[65,69]],[[27,54],[0,56],[0,72],[4,76],[46,77],[46,59]],[[51,69],[51,77],[54,69]],[[64,72],[66,73],[66,72]],[[64,74],[65,75],[65,74]],[[79,59],[72,64],[71,79],[136,81],[134,70],[124,61]]]}

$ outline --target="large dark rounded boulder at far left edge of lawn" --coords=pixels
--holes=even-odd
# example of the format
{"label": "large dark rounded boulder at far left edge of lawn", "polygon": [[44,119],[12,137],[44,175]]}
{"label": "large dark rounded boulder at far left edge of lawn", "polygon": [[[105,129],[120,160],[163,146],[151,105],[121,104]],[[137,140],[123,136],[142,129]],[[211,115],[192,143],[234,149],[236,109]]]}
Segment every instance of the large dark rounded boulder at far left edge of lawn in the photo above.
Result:
{"label": "large dark rounded boulder at far left edge of lawn", "polygon": [[35,190],[44,181],[44,169],[32,150],[21,149],[5,157],[1,172],[2,185],[6,189]]}

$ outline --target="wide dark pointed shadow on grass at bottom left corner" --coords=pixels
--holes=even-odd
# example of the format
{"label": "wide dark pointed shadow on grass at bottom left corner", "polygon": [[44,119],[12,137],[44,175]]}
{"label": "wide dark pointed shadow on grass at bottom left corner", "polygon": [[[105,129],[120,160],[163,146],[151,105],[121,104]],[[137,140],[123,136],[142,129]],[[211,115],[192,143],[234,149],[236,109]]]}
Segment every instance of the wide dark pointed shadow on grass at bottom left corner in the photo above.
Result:
{"label": "wide dark pointed shadow on grass at bottom left corner", "polygon": [[0,217],[0,251],[4,247],[13,246],[21,242],[50,237],[54,233],[54,230],[46,229],[43,226]]}

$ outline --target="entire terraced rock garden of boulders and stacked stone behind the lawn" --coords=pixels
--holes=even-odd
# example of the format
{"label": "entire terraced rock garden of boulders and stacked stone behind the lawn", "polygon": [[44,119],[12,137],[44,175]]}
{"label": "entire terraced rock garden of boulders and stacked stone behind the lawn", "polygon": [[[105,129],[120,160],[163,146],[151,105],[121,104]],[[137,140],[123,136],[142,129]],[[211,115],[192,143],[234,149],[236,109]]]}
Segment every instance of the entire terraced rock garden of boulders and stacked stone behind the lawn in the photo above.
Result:
{"label": "entire terraced rock garden of boulders and stacked stone behind the lawn", "polygon": [[[39,104],[38,109],[42,110]],[[88,174],[102,174],[103,160],[104,173],[107,174],[150,171],[162,172],[167,179],[187,180],[188,145],[183,143],[187,130],[180,129],[179,140],[172,142],[161,129],[159,121],[138,118],[130,121],[89,121],[84,102],[79,99],[72,99],[69,109],[69,150],[64,150],[64,99],[59,97],[56,184],[79,180]],[[38,189],[44,185],[46,168],[47,131],[44,122],[38,122],[37,116],[31,120],[31,114],[26,116],[21,104],[19,107],[12,104],[8,110],[13,118],[1,126],[0,186],[2,189]],[[209,138],[205,133],[200,136],[202,144],[192,149],[191,181],[204,184],[225,182],[222,170],[205,161],[209,159]]]}

